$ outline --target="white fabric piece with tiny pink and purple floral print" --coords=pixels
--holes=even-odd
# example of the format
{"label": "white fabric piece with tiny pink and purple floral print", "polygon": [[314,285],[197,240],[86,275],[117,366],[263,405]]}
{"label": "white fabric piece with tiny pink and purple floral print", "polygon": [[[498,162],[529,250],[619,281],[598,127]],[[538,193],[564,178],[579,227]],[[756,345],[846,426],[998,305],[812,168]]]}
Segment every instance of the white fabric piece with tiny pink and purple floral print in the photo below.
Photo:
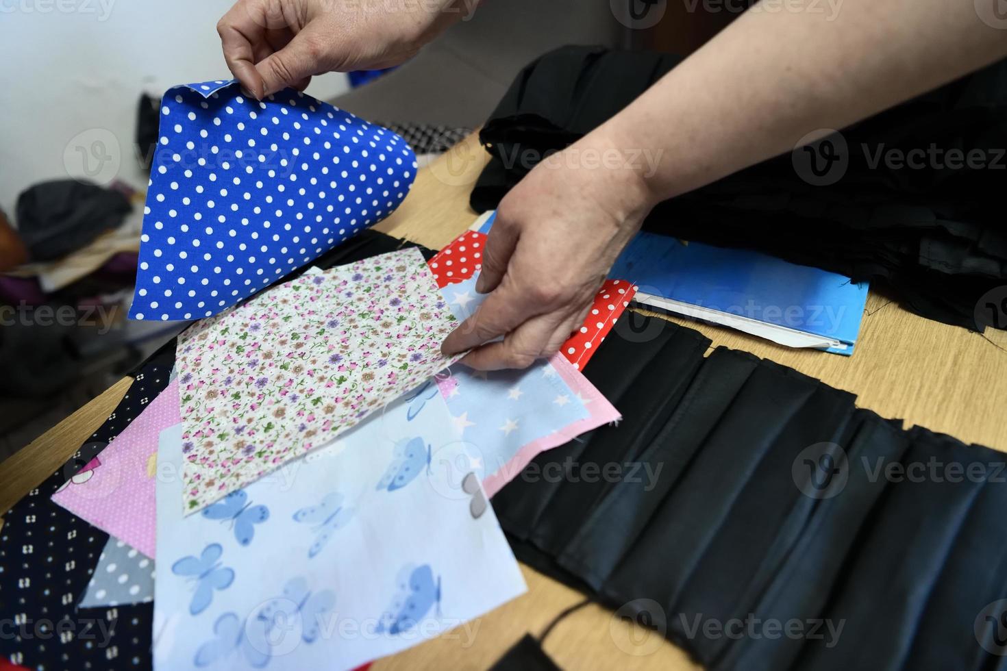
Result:
{"label": "white fabric piece with tiny pink and purple floral print", "polygon": [[328,443],[460,356],[416,248],[312,272],[178,338],[184,507]]}

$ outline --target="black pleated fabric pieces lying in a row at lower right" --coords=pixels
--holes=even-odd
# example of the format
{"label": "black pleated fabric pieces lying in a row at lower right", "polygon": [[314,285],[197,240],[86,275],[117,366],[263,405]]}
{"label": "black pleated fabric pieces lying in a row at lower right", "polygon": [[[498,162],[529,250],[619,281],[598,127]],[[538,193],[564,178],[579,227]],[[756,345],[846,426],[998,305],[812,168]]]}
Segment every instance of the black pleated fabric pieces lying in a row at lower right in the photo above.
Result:
{"label": "black pleated fabric pieces lying in a row at lower right", "polygon": [[[993,668],[1003,455],[903,431],[744,352],[704,358],[709,343],[620,320],[585,374],[622,422],[543,453],[493,498],[519,558],[711,669]],[[732,621],[755,635],[705,633]],[[804,633],[766,636],[770,621]]]}

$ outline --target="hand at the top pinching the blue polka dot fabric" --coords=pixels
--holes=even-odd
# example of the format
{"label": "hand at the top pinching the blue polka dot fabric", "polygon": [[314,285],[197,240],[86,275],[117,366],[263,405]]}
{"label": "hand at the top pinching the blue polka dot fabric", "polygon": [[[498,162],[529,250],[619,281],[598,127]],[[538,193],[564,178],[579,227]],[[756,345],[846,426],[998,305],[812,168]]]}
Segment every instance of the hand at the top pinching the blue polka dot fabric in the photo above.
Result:
{"label": "hand at the top pinching the blue polka dot fabric", "polygon": [[262,100],[312,74],[391,67],[474,6],[473,0],[239,0],[217,24],[228,67]]}

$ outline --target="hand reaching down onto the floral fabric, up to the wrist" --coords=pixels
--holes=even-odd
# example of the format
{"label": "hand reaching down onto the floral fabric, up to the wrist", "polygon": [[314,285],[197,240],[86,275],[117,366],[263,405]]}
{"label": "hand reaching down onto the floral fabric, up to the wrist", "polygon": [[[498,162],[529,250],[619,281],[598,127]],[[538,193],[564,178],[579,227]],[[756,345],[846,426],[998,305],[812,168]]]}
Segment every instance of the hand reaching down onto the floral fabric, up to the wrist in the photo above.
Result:
{"label": "hand reaching down onto the floral fabric, up to the wrist", "polygon": [[[537,165],[500,201],[476,290],[490,292],[444,340],[481,370],[525,368],[580,326],[655,200],[645,163],[602,127]],[[488,344],[498,336],[503,339]]]}

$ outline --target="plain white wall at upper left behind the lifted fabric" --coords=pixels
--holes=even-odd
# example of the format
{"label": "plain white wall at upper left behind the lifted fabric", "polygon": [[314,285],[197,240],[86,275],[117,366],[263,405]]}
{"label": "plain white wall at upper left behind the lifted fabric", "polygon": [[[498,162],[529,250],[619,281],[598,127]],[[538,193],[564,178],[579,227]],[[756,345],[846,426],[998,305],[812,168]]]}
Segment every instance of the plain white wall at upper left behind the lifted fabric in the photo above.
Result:
{"label": "plain white wall at upper left behind the lifted fabric", "polygon": [[[0,0],[0,207],[13,219],[25,187],[96,171],[82,149],[112,156],[96,181],[118,176],[145,189],[133,144],[140,93],[231,78],[215,28],[231,4]],[[330,73],[307,93],[329,99],[347,88]]]}

